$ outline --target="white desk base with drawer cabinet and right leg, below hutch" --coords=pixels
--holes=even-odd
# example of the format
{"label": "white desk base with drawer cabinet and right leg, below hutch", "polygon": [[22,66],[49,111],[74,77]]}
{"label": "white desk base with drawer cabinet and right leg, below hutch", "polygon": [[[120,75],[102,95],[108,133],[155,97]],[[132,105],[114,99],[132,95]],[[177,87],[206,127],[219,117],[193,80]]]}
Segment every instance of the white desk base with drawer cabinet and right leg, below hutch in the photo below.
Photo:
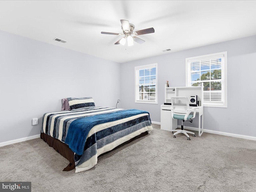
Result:
{"label": "white desk base with drawer cabinet and right leg, below hutch", "polygon": [[[194,107],[191,107],[194,108]],[[204,132],[204,107],[197,106],[196,113],[198,113],[198,135],[201,136]],[[201,124],[202,118],[202,124]],[[161,105],[161,129],[172,131],[178,126],[177,119],[172,118],[171,105]]]}

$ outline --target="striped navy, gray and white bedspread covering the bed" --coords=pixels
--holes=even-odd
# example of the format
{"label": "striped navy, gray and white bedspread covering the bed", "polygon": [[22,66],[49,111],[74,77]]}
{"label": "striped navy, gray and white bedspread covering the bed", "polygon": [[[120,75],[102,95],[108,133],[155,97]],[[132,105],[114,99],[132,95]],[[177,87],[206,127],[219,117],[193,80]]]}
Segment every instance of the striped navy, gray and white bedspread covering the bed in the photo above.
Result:
{"label": "striped navy, gray and white bedspread covering the bed", "polygon": [[[131,114],[127,115],[130,112]],[[119,117],[116,118],[116,116]],[[120,116],[123,117],[120,118]],[[86,122],[86,120],[88,121]],[[96,120],[98,123],[95,123]],[[84,122],[84,124],[81,124],[81,122]],[[91,125],[88,122],[93,122],[94,124]],[[69,128],[70,131],[68,131]],[[80,129],[83,133],[79,134],[76,128],[78,130]],[[45,113],[41,132],[62,142],[65,142],[67,139],[65,143],[69,145],[69,138],[73,139],[72,145],[76,144],[74,140],[79,140],[78,143],[80,143],[83,152],[77,154],[76,151],[71,148],[74,151],[77,173],[89,170],[96,165],[97,157],[100,154],[114,149],[116,146],[145,131],[150,132],[151,130],[152,126],[148,112],[95,107],[88,110]],[[84,134],[84,131],[86,131],[86,134]],[[74,136],[74,134],[77,134],[77,136]],[[81,135],[86,138],[82,138]],[[83,139],[84,142],[81,141]]]}

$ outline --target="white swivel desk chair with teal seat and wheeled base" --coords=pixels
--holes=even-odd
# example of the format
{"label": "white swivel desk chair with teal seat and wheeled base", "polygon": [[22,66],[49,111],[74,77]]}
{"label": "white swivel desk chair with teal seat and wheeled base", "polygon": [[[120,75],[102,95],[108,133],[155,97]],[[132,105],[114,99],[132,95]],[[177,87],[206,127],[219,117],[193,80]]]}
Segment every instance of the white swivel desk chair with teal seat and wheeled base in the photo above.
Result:
{"label": "white swivel desk chair with teal seat and wheeled base", "polygon": [[172,118],[182,120],[181,130],[172,130],[173,137],[176,138],[176,135],[179,133],[183,133],[187,136],[188,140],[190,140],[188,133],[193,134],[195,137],[195,133],[184,130],[183,129],[183,122],[190,121],[196,116],[196,108],[190,108],[189,101],[187,97],[172,97]]}

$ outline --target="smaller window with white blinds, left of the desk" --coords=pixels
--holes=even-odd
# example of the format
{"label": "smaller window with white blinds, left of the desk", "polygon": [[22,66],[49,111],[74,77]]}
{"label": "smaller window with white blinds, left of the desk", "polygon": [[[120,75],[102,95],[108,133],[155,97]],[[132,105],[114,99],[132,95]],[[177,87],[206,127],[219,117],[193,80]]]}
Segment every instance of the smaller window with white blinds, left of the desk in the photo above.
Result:
{"label": "smaller window with white blinds, left of the desk", "polygon": [[135,67],[135,102],[157,104],[157,64]]}

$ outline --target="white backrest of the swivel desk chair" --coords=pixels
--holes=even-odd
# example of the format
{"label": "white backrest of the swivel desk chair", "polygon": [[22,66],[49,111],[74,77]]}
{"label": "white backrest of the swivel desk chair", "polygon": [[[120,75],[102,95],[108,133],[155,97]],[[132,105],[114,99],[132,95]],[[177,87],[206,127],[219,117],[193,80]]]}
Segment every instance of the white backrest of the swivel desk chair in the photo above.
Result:
{"label": "white backrest of the swivel desk chair", "polygon": [[190,110],[189,101],[187,97],[172,97],[172,117],[173,114],[184,115]]}

